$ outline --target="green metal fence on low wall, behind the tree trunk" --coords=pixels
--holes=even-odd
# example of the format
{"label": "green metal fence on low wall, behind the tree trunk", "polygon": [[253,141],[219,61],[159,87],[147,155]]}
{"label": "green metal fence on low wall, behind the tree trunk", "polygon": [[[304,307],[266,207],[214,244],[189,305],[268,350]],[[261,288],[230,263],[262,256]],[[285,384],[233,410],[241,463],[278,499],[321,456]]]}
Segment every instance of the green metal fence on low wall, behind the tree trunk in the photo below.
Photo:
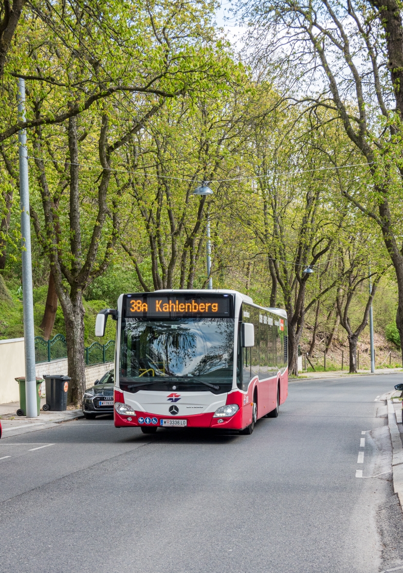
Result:
{"label": "green metal fence on low wall, behind the tree trunk", "polygon": [[[85,364],[102,364],[113,362],[114,340],[108,340],[106,344],[93,342],[91,346],[84,348]],[[66,339],[62,334],[57,334],[52,340],[45,340],[42,336],[35,336],[35,362],[52,362],[59,358],[67,358]]]}

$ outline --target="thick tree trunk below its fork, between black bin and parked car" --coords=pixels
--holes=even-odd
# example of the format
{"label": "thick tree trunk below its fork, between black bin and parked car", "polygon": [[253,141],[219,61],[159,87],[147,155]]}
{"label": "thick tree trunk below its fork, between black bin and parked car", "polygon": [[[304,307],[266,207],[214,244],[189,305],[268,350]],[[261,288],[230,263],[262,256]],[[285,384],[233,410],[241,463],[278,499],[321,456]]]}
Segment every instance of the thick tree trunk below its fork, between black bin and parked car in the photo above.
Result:
{"label": "thick tree trunk below its fork, between black bin and parked car", "polygon": [[69,402],[80,407],[82,395],[85,392],[85,362],[84,362],[84,315],[82,292],[70,292],[60,299],[66,324],[66,342],[68,358]]}

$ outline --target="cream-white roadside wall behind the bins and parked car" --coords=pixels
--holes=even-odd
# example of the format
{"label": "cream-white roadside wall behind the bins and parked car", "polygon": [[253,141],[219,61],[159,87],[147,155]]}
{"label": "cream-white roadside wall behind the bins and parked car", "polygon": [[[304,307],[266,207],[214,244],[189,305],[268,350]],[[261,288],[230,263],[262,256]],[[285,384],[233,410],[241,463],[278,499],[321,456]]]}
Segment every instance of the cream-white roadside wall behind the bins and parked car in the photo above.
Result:
{"label": "cream-white roadside wall behind the bins and parked car", "polygon": [[[86,366],[86,388],[93,386],[96,379],[100,379],[112,368],[113,362]],[[52,362],[39,362],[35,365],[35,371],[37,377],[41,378],[44,374],[67,375],[67,358],[52,360]],[[19,400],[18,383],[15,382],[18,376],[25,376],[24,339],[0,340],[0,404]],[[45,383],[42,384],[41,395],[45,396]]]}

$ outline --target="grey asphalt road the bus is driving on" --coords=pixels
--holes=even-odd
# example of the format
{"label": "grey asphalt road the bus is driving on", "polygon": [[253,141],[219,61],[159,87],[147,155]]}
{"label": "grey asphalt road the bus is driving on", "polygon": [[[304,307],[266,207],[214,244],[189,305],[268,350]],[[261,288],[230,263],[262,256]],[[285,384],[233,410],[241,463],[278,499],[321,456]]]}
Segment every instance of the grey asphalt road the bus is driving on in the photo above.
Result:
{"label": "grey asphalt road the bus is driving on", "polygon": [[375,401],[401,378],[291,382],[250,436],[97,418],[1,439],[0,571],[403,572]]}

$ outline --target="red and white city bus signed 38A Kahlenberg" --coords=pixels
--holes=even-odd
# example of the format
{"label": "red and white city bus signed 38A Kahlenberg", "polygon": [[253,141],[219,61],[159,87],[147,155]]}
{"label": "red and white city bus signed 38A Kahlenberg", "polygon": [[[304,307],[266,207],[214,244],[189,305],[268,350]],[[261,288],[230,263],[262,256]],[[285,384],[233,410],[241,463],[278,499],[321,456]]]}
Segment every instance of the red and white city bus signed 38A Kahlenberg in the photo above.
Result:
{"label": "red and white city bus signed 38A Kahlenberg", "polygon": [[208,427],[251,434],[288,394],[287,314],[230,290],[121,295],[97,316],[117,320],[114,425]]}

